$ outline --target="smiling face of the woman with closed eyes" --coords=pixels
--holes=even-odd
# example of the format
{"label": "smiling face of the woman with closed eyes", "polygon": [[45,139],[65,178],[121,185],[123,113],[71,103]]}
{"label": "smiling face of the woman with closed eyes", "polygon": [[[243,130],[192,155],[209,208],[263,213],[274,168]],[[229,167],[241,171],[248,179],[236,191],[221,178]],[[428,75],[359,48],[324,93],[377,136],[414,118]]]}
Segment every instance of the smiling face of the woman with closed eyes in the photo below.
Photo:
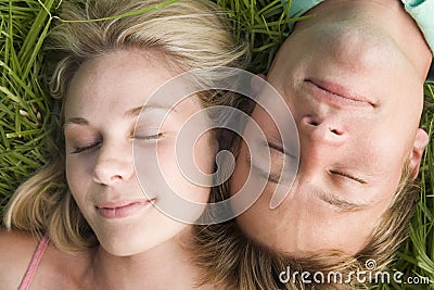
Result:
{"label": "smiling face of the woman with closed eyes", "polygon": [[[114,255],[146,251],[186,228],[155,209],[159,192],[145,196],[142,191],[133,165],[133,142],[140,150],[157,150],[159,168],[150,169],[162,171],[177,194],[201,203],[208,200],[209,188],[188,181],[178,169],[175,153],[177,133],[202,109],[199,101],[188,98],[174,110],[150,104],[141,113],[152,92],[177,75],[167,67],[155,53],[117,51],[85,62],[67,91],[68,187],[101,245]],[[168,112],[158,129],[155,119]],[[204,134],[193,152],[197,167],[205,173],[214,165],[210,143],[210,135]]]}

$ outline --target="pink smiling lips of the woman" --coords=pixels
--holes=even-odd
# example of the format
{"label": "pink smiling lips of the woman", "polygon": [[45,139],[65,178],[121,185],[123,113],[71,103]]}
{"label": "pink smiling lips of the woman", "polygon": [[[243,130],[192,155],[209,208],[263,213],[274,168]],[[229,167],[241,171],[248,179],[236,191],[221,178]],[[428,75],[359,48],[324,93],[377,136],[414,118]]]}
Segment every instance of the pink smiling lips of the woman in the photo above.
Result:
{"label": "pink smiling lips of the woman", "polygon": [[146,209],[153,200],[111,201],[98,204],[98,212],[105,218],[127,217]]}

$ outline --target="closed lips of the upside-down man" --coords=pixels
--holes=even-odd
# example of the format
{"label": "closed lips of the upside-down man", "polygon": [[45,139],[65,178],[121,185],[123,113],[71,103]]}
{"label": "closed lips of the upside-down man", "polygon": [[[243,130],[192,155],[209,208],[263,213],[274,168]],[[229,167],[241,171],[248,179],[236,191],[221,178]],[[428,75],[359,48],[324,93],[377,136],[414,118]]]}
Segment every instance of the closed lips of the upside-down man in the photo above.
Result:
{"label": "closed lips of the upside-down man", "polygon": [[315,97],[337,105],[370,105],[374,102],[355,91],[333,81],[307,78],[309,89]]}

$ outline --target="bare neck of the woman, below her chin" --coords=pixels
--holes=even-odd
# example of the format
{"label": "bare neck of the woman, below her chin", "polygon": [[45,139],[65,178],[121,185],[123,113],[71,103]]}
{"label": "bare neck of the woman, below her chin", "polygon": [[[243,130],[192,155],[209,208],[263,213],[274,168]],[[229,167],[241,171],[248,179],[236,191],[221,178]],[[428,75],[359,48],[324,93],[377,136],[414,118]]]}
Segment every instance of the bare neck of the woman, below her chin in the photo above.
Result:
{"label": "bare neck of the woman, below her chin", "polygon": [[145,252],[115,256],[102,247],[95,251],[93,280],[98,289],[192,289],[199,272],[186,249],[191,227]]}

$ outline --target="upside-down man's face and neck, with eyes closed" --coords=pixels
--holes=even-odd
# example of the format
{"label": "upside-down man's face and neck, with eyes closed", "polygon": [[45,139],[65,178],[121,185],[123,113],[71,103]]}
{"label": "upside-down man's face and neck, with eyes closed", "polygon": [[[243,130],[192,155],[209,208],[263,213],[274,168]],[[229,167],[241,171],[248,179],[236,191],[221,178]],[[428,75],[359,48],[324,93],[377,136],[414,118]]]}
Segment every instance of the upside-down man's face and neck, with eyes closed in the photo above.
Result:
{"label": "upside-down man's face and neck, with eyes closed", "polygon": [[[267,76],[297,125],[295,182],[270,210],[277,185],[268,180],[238,223],[256,241],[294,256],[354,254],[391,204],[407,161],[417,174],[427,142],[418,126],[432,55],[398,1],[326,1],[312,13],[297,24]],[[279,175],[291,161],[277,149],[282,140],[273,119],[260,108],[252,117],[277,142],[270,176]],[[253,154],[241,146],[232,193],[243,187],[251,164],[252,175],[264,176]]]}

